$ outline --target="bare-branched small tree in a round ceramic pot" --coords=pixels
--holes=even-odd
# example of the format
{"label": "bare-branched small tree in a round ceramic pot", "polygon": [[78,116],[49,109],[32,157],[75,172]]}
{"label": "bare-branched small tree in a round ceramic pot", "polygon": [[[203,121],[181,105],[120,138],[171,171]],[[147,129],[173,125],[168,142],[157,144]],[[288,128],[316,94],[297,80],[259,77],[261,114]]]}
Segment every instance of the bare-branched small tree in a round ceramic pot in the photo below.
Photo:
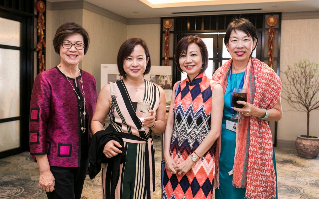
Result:
{"label": "bare-branched small tree in a round ceramic pot", "polygon": [[316,158],[319,138],[309,136],[309,116],[312,110],[319,110],[319,63],[300,60],[282,72],[287,78],[287,82],[283,82],[282,98],[293,110],[307,113],[307,135],[297,136],[297,153],[302,158]]}

